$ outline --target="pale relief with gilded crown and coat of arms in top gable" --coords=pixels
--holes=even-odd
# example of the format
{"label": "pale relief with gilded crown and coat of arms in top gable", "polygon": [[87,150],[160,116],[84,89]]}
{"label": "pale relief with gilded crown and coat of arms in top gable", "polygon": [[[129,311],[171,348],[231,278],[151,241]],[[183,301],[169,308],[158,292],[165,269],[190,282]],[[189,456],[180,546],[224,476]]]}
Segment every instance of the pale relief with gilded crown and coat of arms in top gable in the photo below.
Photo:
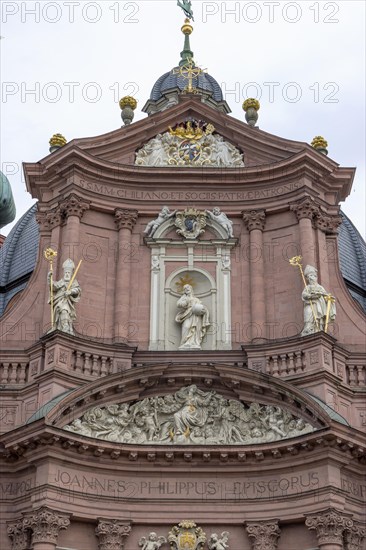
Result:
{"label": "pale relief with gilded crown and coat of arms in top gable", "polygon": [[136,152],[137,166],[244,167],[243,153],[215,127],[197,119],[186,120],[157,134]]}

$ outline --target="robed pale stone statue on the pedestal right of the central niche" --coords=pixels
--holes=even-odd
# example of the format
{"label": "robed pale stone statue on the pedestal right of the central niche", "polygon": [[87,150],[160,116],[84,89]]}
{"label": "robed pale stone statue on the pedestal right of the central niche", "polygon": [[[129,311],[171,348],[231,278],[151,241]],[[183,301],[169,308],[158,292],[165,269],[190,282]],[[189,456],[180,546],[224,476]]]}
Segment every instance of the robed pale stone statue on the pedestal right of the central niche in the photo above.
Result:
{"label": "robed pale stone statue on the pedestal right of the central niche", "polygon": [[333,322],[336,316],[335,299],[318,283],[318,271],[315,267],[307,265],[304,276],[308,284],[302,291],[304,328],[301,336],[320,330],[326,332],[328,323]]}

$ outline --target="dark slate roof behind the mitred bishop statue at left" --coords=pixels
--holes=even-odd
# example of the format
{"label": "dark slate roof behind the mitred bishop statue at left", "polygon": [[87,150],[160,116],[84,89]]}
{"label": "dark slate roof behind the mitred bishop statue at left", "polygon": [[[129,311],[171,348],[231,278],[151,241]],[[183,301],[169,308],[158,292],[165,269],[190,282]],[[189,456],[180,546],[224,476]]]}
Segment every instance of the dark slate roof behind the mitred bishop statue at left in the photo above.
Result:
{"label": "dark slate roof behind the mitred bishop statue at left", "polygon": [[10,299],[23,290],[37,260],[39,229],[37,205],[33,205],[13,227],[0,249],[0,315]]}

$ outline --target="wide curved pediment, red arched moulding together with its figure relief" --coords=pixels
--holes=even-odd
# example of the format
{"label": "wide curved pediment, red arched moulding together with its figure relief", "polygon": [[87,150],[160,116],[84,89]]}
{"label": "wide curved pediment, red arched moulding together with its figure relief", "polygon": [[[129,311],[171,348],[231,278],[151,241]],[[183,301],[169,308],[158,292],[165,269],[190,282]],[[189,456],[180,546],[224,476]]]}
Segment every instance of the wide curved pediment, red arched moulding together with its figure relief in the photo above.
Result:
{"label": "wide curved pediment, red arched moulding together with its figure relief", "polygon": [[[213,428],[215,436],[221,433],[217,444],[223,445],[224,438],[230,445],[253,445],[310,434],[332,422],[308,394],[282,380],[239,367],[197,364],[187,384],[186,369],[181,363],[157,364],[95,381],[62,399],[46,415],[46,424],[70,436],[111,443],[131,439],[129,443],[142,445],[212,445]],[[190,400],[199,411],[192,411],[192,418],[186,414]],[[192,436],[182,440],[177,433],[184,425],[179,425],[179,417],[184,416],[196,442]]]}

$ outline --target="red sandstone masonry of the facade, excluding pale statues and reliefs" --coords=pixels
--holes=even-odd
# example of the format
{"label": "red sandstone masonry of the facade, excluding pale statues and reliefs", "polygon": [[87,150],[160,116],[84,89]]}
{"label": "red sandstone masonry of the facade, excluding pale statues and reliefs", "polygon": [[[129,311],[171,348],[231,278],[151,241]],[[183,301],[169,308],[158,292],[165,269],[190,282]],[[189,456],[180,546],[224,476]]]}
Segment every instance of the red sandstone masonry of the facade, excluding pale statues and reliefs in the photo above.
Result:
{"label": "red sandstone masonry of the facade, excluding pale statues and reliefs", "polygon": [[[213,123],[244,152],[245,168],[134,165],[137,149],[187,117]],[[3,548],[133,550],[150,531],[167,536],[193,519],[206,533],[229,531],[232,550],[361,550],[365,317],[343,281],[337,246],[338,205],[354,170],[190,95],[24,168],[27,189],[39,200],[40,247],[28,286],[1,319]],[[214,344],[199,352],[162,349],[151,340],[152,244],[143,231],[165,204],[220,206],[233,221],[230,322],[218,318]],[[187,265],[175,230],[164,239],[172,256],[168,280]],[[207,230],[191,268],[206,270],[214,282],[208,257],[215,239]],[[75,336],[47,334],[48,246],[59,251],[59,275],[66,258],[83,259]],[[288,261],[297,254],[318,268],[320,284],[337,298],[330,334],[299,336],[303,285]],[[226,447],[123,445],[62,429],[91,405],[189,384],[286,405],[317,429]],[[26,424],[68,390],[74,391]],[[309,394],[347,422],[332,419]]]}

